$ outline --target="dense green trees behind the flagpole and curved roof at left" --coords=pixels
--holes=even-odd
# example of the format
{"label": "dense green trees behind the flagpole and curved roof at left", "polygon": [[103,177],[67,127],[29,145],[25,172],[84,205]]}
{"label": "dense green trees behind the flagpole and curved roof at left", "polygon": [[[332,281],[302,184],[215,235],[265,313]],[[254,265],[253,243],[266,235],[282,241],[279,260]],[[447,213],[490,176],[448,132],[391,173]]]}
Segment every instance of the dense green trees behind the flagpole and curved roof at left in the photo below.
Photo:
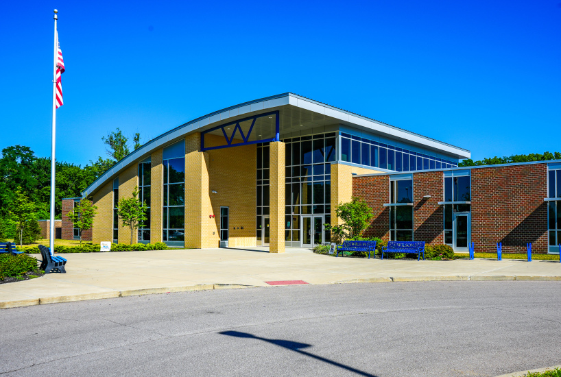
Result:
{"label": "dense green trees behind the flagpole and curved roof at left", "polygon": [[[141,147],[141,136],[129,138],[119,128],[102,137],[106,157],[82,167],[56,162],[55,217],[61,219],[62,198],[81,197],[82,191],[121,158]],[[31,148],[12,145],[0,158],[0,240],[17,239],[32,243],[38,239],[38,219],[49,219],[51,159],[38,157]]]}

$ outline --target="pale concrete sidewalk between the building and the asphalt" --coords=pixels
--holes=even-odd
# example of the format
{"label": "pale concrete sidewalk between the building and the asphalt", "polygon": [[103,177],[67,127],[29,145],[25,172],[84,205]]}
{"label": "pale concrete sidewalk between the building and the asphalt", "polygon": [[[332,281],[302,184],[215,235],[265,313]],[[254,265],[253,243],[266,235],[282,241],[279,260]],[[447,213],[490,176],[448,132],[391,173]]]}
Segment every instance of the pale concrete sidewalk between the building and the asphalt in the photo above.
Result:
{"label": "pale concrete sidewalk between the building and the asphalt", "polygon": [[[40,259],[40,255],[35,255]],[[201,289],[429,280],[561,280],[552,260],[380,260],[334,258],[309,249],[266,248],[64,254],[67,273],[0,284],[0,308]]]}

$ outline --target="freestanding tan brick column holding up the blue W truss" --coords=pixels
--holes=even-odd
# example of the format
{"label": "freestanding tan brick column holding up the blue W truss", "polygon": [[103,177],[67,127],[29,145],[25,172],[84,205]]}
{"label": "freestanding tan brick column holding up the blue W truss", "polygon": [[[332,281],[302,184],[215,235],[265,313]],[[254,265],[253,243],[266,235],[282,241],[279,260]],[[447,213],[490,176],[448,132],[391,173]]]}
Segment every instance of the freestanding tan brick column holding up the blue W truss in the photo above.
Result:
{"label": "freestanding tan brick column holding up the blue W truss", "polygon": [[285,143],[270,143],[270,246],[269,252],[285,252]]}

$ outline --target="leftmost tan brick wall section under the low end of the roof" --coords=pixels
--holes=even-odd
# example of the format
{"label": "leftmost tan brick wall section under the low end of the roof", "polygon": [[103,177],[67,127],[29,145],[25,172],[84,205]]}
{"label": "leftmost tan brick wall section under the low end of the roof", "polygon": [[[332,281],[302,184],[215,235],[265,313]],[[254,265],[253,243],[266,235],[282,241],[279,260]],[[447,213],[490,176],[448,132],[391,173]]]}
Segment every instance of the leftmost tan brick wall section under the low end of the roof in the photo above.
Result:
{"label": "leftmost tan brick wall section under the low end of the roof", "polygon": [[97,215],[93,219],[92,242],[112,241],[113,239],[113,181],[110,180],[93,195]]}

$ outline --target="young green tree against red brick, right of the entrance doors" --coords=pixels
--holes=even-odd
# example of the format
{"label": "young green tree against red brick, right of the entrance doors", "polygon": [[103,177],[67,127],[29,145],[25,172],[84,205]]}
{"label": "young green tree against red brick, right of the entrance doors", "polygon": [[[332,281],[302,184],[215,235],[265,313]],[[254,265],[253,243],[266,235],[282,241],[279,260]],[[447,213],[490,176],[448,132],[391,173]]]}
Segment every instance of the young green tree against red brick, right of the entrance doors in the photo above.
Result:
{"label": "young green tree against red brick, right of the entrance doors", "polygon": [[337,242],[360,237],[374,216],[372,208],[358,197],[353,197],[348,203],[339,204],[335,208],[335,213],[342,219],[342,225],[332,227],[331,224],[325,223],[324,226],[326,230],[331,231]]}

